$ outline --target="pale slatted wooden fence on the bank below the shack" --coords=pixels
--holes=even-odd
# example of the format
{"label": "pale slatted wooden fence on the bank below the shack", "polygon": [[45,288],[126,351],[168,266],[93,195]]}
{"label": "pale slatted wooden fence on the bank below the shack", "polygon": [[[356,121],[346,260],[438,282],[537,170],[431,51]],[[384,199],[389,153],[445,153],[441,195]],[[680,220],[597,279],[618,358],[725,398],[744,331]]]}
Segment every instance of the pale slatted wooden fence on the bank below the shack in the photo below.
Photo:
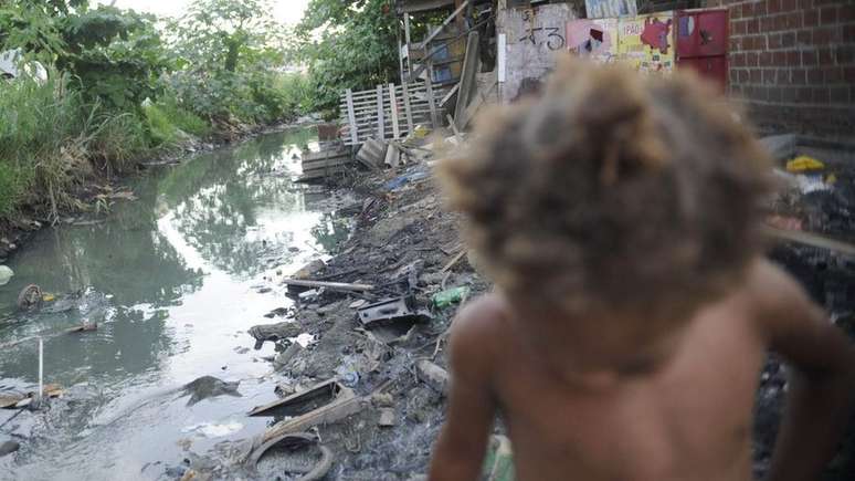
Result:
{"label": "pale slatted wooden fence on the bank below the shack", "polygon": [[342,137],[346,145],[360,145],[369,138],[392,140],[405,137],[419,124],[441,125],[442,98],[447,88],[426,82],[378,85],[362,92],[348,90],[341,96]]}

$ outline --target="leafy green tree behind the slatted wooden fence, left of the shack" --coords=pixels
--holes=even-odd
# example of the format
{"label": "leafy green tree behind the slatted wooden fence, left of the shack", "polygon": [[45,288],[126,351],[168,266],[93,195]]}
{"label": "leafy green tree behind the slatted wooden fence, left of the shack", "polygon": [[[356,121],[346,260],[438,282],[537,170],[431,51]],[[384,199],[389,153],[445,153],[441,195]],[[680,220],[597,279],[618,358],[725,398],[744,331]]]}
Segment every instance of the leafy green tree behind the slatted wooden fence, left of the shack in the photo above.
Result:
{"label": "leafy green tree behind the slatted wooden fence, left of the shack", "polygon": [[335,109],[346,88],[398,79],[398,19],[391,0],[312,0],[292,59],[308,66],[315,109]]}

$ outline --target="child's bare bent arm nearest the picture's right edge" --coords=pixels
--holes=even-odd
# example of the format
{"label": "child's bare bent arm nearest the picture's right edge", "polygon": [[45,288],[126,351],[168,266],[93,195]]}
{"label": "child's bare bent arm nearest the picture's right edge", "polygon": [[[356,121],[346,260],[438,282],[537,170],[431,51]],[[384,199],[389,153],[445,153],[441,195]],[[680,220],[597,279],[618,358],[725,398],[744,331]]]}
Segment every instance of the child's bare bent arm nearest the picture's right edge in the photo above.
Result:
{"label": "child's bare bent arm nearest the picture's right edge", "polygon": [[819,479],[855,400],[855,348],[804,291],[775,268],[763,275],[763,327],[788,363],[783,424],[769,481]]}

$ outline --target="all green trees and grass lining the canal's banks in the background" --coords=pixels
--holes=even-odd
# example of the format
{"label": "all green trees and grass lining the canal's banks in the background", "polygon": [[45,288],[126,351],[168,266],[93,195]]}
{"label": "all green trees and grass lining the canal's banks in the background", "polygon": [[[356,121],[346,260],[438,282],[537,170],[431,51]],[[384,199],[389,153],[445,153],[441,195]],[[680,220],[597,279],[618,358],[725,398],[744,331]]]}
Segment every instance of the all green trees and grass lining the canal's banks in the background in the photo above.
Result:
{"label": "all green trees and grass lining the canal's banks in the background", "polygon": [[0,80],[0,223],[23,207],[54,220],[83,209],[76,194],[142,156],[337,116],[342,90],[397,81],[392,4],[312,0],[289,31],[271,0],[192,0],[177,19],[89,0],[0,1],[0,53],[48,71]]}

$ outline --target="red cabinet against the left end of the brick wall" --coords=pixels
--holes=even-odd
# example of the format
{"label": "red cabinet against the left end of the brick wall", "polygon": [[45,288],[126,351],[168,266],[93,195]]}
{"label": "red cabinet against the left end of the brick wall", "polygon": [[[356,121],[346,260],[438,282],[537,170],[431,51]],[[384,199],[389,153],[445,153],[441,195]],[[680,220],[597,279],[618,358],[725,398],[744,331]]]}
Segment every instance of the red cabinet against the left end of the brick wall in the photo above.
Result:
{"label": "red cabinet against the left end of the brick wall", "polygon": [[722,88],[728,81],[728,11],[678,11],[677,66],[694,69]]}

